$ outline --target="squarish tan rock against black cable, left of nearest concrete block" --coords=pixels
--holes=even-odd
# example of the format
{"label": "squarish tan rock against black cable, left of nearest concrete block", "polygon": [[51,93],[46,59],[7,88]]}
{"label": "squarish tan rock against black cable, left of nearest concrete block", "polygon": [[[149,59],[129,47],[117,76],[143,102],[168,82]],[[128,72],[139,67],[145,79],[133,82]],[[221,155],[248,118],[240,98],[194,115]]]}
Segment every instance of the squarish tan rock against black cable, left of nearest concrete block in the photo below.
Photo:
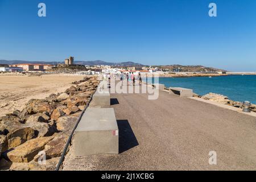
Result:
{"label": "squarish tan rock against black cable, left of nearest concrete block", "polygon": [[64,131],[64,132],[71,132],[73,128],[75,127],[77,122],[77,117],[60,117],[57,120],[57,130],[58,131]]}

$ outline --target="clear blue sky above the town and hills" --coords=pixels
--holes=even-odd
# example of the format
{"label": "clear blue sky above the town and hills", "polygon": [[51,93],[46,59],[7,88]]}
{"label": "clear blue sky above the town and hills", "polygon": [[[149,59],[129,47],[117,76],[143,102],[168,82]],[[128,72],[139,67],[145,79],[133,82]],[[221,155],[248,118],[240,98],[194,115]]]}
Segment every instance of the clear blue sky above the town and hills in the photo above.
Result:
{"label": "clear blue sky above the town and hills", "polygon": [[[38,3],[47,17],[38,17]],[[210,2],[217,17],[208,16]],[[254,0],[0,0],[0,59],[256,71]]]}

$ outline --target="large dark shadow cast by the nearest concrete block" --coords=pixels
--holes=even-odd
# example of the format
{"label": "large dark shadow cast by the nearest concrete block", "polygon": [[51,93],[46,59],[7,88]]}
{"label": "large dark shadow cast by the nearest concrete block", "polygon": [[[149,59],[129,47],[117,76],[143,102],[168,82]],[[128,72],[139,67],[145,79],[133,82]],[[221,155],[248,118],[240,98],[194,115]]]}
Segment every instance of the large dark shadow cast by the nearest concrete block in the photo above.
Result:
{"label": "large dark shadow cast by the nearest concrete block", "polygon": [[128,120],[117,120],[119,130],[119,154],[139,145]]}

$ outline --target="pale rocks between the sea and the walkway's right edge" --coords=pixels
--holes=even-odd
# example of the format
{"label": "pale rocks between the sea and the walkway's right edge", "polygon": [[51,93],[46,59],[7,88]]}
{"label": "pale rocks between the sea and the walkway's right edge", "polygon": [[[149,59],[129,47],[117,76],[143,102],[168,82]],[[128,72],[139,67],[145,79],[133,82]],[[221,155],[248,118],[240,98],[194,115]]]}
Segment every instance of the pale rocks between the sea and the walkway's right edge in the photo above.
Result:
{"label": "pale rocks between the sea and the walkway's right edge", "polygon": [[[229,100],[227,96],[223,96],[221,94],[208,93],[208,94],[205,94],[204,96],[199,96],[198,94],[194,93],[193,97],[199,97],[199,98],[203,98],[204,100],[210,100],[210,101],[218,102],[220,104],[225,104],[225,105],[243,109],[243,102]],[[251,104],[250,110],[253,112],[256,112],[256,105]]]}

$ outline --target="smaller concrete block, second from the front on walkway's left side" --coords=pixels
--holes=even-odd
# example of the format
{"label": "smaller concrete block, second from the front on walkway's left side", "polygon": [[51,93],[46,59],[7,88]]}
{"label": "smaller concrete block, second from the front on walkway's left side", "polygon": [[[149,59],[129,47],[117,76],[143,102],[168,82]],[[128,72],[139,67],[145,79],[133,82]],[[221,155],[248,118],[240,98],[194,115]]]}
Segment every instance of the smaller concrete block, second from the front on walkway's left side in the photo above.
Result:
{"label": "smaller concrete block, second from the front on walkway's left side", "polygon": [[109,90],[98,88],[93,95],[90,106],[110,106]]}

